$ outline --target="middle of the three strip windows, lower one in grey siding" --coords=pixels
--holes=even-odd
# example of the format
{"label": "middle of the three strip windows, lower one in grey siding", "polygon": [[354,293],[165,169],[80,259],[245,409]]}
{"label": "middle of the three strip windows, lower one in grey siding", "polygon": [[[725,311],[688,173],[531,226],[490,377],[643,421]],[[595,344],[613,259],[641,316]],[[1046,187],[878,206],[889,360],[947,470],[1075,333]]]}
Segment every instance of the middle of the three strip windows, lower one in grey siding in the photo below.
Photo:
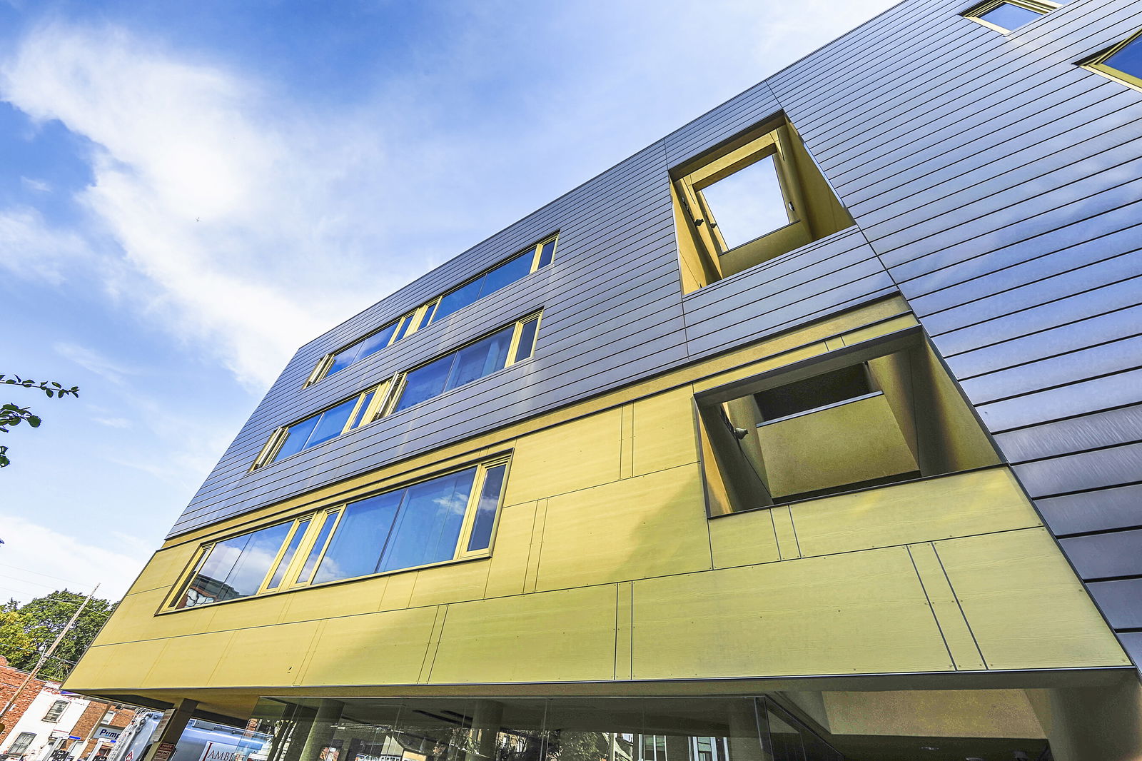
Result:
{"label": "middle of the three strip windows, lower one in grey siding", "polygon": [[540,312],[530,314],[427,365],[408,373],[397,373],[380,385],[339,404],[291,425],[283,425],[271,434],[250,471],[291,457],[353,428],[530,358],[536,350],[540,317]]}

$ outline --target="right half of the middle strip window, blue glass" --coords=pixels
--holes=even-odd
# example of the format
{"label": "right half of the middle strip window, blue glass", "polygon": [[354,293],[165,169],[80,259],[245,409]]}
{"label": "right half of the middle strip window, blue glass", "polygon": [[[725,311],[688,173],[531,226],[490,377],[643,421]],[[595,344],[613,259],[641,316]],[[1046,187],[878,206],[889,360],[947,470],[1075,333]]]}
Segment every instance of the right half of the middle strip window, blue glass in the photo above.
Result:
{"label": "right half of the middle strip window, blue glass", "polygon": [[394,380],[393,412],[439,396],[466,383],[490,375],[531,357],[539,329],[533,314],[490,336],[409,370]]}

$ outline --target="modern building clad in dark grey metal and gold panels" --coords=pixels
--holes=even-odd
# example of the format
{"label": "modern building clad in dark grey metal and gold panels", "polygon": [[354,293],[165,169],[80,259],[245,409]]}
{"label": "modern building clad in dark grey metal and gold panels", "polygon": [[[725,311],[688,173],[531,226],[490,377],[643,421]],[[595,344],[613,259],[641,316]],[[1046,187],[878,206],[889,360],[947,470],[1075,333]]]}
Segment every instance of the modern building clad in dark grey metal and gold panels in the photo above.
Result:
{"label": "modern building clad in dark grey metal and gold panels", "polygon": [[305,344],[69,689],[270,761],[1142,758],[1140,30],[904,0]]}

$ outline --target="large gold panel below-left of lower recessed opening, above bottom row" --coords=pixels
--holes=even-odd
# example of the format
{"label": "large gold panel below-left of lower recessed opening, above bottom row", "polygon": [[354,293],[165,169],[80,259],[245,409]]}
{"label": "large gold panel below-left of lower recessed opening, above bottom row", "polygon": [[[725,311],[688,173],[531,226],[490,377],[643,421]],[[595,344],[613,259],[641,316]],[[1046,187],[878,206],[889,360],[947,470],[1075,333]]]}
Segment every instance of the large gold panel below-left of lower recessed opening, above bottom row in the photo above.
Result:
{"label": "large gold panel below-left of lower recessed opening, above bottom row", "polygon": [[537,590],[710,568],[698,465],[547,500]]}

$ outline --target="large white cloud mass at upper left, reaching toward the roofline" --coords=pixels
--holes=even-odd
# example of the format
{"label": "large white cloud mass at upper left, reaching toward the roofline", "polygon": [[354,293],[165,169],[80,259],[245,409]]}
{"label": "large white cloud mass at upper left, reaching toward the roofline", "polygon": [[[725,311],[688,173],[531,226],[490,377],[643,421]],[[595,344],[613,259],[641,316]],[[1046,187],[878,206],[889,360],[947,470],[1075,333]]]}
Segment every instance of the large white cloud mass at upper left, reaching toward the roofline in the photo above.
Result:
{"label": "large white cloud mass at upper left, reaching toward the roofline", "polygon": [[[348,213],[360,201],[343,184],[379,182],[367,171],[378,168],[375,137],[352,126],[317,125],[222,69],[114,29],[40,27],[3,64],[0,88],[95,144],[94,184],[78,195],[85,233],[110,235],[145,278],[123,287],[106,274],[110,286],[243,382],[267,384],[298,344],[395,285],[351,247],[369,217]],[[48,262],[79,246],[43,233],[27,210],[0,227],[5,239],[54,245]],[[19,266],[62,277],[53,264]]]}

